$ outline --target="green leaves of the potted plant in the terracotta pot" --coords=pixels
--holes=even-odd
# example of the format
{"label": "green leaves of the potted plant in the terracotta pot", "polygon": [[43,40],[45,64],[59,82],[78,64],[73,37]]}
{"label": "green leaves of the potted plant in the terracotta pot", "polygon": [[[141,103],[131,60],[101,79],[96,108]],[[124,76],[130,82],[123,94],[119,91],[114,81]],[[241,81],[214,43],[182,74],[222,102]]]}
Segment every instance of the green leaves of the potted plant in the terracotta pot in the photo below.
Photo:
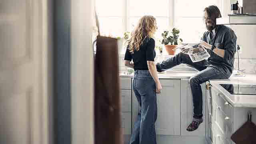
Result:
{"label": "green leaves of the potted plant in the terracotta pot", "polygon": [[180,30],[178,30],[177,28],[172,29],[172,36],[168,35],[169,33],[169,31],[164,31],[164,33],[162,33],[162,44],[167,45],[170,43],[171,45],[178,45],[178,40],[183,42],[181,38],[178,39],[180,36],[178,35],[180,33]]}

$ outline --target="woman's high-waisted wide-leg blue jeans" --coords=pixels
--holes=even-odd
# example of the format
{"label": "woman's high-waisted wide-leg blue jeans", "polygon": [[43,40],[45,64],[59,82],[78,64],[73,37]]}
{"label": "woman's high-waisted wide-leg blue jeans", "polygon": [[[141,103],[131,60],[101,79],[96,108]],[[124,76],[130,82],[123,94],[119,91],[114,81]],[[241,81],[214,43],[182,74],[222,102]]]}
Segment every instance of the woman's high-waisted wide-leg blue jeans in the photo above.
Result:
{"label": "woman's high-waisted wide-leg blue jeans", "polygon": [[141,107],[130,144],[156,144],[157,118],[156,83],[147,70],[136,70],[132,82],[134,94]]}

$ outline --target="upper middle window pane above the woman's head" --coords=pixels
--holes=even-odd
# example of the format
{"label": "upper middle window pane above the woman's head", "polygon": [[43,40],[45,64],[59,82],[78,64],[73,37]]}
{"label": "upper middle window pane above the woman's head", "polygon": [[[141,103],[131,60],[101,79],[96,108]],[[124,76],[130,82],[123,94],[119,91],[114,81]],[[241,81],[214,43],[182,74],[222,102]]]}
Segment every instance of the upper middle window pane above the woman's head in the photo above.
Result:
{"label": "upper middle window pane above the woman's head", "polygon": [[169,16],[169,0],[128,0],[128,3],[129,16]]}

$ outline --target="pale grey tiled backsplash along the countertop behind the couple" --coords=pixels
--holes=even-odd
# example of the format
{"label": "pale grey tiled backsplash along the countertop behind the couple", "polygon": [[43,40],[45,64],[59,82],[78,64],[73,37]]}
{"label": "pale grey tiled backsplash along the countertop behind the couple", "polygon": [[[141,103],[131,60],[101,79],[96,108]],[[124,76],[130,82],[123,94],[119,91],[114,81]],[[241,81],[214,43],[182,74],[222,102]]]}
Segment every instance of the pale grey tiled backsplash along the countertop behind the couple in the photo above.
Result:
{"label": "pale grey tiled backsplash along the countertop behind the couple", "polygon": [[[164,60],[170,56],[164,56]],[[155,61],[158,62],[158,56],[156,56]],[[240,59],[239,62],[240,70],[244,70],[246,73],[256,73],[256,59]],[[120,71],[126,71],[127,67],[124,66],[124,55],[119,55],[119,68]],[[238,59],[235,59],[234,68],[238,70]],[[186,72],[195,72],[193,68],[190,68],[186,64],[180,64],[174,68],[171,68],[168,71],[186,71]]]}

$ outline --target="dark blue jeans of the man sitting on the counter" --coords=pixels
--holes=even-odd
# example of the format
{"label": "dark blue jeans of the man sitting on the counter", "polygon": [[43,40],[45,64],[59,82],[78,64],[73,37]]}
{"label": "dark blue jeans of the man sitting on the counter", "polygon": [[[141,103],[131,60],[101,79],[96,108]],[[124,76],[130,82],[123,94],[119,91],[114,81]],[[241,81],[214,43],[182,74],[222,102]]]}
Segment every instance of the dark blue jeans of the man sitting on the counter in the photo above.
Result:
{"label": "dark blue jeans of the man sitting on the counter", "polygon": [[[225,74],[223,70],[214,66],[209,66],[207,60],[200,62],[192,62],[188,54],[179,53],[166,61],[158,63],[156,69],[162,72],[173,68],[179,64],[187,64],[188,66],[198,70],[199,72],[189,79],[194,105],[194,118],[202,118],[203,114],[203,98],[200,84],[213,79],[226,79],[230,74]],[[227,77],[228,76],[228,77]]]}

